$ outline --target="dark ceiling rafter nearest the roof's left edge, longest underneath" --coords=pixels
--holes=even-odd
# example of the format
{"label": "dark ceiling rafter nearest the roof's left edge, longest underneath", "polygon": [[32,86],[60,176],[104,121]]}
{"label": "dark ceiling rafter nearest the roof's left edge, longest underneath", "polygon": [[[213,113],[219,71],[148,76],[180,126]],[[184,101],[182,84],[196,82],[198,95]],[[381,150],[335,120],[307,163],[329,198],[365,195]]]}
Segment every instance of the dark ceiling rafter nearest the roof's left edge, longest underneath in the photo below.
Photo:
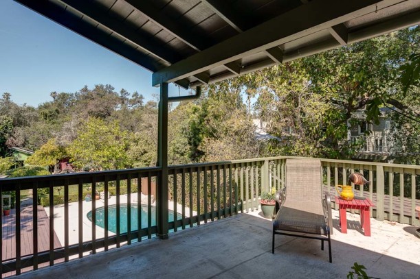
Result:
{"label": "dark ceiling rafter nearest the roof's left edge, longest underneath", "polygon": [[69,5],[74,10],[77,10],[81,14],[93,19],[97,23],[100,23],[107,29],[110,29],[115,34],[120,35],[122,38],[128,40],[129,42],[137,45],[144,51],[148,51],[156,56],[159,59],[162,59],[169,64],[174,64],[179,60],[182,60],[183,57],[175,53],[173,50],[168,49],[167,47],[159,46],[155,38],[142,36],[139,32],[135,32],[130,29],[128,26],[124,25],[117,19],[113,19],[111,16],[108,16],[103,12],[100,7],[93,5],[89,1],[79,1],[79,0],[59,0],[65,5]]}

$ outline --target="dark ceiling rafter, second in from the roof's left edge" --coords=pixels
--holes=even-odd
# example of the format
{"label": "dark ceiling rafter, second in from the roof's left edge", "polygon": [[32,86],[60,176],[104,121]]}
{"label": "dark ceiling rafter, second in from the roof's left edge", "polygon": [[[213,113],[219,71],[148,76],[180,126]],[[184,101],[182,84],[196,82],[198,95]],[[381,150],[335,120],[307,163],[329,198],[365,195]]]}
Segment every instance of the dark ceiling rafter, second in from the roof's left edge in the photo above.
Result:
{"label": "dark ceiling rafter, second in from the roof's left edge", "polygon": [[137,11],[142,12],[148,19],[153,21],[165,29],[166,32],[169,32],[173,36],[179,38],[192,49],[200,51],[206,49],[210,44],[206,41],[203,41],[199,36],[195,36],[190,31],[188,31],[184,26],[180,25],[178,21],[171,19],[169,16],[166,16],[161,10],[153,7],[148,1],[138,1],[138,0],[125,0],[127,3],[132,5]]}

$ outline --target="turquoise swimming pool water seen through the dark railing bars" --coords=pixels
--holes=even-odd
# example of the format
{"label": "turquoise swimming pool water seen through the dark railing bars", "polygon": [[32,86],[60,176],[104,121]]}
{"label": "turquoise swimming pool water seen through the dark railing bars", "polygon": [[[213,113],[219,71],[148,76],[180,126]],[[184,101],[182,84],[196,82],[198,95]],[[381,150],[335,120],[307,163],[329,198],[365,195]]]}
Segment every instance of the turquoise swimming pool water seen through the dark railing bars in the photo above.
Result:
{"label": "turquoise swimming pool water seen through the dark railing bars", "polygon": [[[104,228],[105,213],[104,207],[96,208],[96,225]],[[156,207],[152,206],[152,220],[151,226],[156,226]],[[142,216],[142,228],[147,228],[147,206],[144,205],[141,208]],[[173,210],[169,210],[169,221],[173,221]],[[181,215],[177,215],[177,219],[181,219]],[[87,213],[87,219],[92,221],[92,212]],[[131,204],[131,230],[137,230],[137,205]],[[108,206],[108,230],[111,232],[117,233],[117,206],[111,205]],[[120,204],[120,233],[127,232],[127,204]]]}

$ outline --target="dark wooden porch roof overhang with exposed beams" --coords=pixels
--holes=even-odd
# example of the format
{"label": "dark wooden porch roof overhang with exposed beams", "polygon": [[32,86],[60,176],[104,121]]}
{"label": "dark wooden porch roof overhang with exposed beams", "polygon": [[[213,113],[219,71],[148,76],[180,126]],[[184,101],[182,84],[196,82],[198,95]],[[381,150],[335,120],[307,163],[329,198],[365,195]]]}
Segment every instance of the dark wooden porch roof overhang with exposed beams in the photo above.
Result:
{"label": "dark wooden porch roof overhang with exposed beams", "polygon": [[195,88],[420,23],[418,0],[15,0]]}

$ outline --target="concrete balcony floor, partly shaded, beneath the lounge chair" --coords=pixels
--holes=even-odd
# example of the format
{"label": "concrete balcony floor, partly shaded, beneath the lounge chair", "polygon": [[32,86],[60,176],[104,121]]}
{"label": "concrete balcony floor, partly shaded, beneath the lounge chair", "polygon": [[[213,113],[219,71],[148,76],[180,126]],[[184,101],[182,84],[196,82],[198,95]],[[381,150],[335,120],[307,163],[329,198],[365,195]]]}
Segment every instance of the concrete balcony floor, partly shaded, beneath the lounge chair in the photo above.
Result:
{"label": "concrete balcony floor, partly shaded, beneath the lounge chair", "polygon": [[376,278],[420,278],[420,239],[414,228],[372,222],[372,236],[348,213],[348,234],[334,215],[333,263],[320,241],[276,236],[261,213],[241,214],[81,260],[28,272],[19,278],[346,278],[353,263]]}

